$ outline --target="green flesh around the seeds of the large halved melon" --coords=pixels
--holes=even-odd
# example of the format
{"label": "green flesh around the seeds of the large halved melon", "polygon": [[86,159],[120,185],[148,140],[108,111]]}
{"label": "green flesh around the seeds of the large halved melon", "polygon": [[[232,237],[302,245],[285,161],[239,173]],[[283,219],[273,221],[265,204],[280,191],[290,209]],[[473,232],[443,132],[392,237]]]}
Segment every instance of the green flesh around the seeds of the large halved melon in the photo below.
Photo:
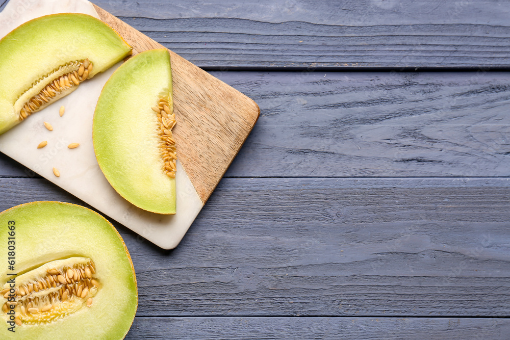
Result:
{"label": "green flesh around the seeds of the large halved melon", "polygon": [[[38,270],[46,272],[44,264],[50,261],[83,258],[93,261],[94,276],[100,282],[90,307],[84,305],[68,316],[47,323],[16,325],[14,333],[8,330],[12,326],[0,309],[0,338],[122,339],[125,336],[138,304],[136,277],[124,242],[106,219],[79,205],[41,201],[1,213],[0,225],[0,258],[5,263],[0,266],[0,286],[11,278],[9,273],[17,273],[14,281],[17,278],[21,282],[23,277],[30,277]],[[8,228],[12,225],[13,231]],[[11,247],[14,270],[7,267],[8,257],[13,255],[8,253],[9,238],[14,241],[14,250]],[[59,262],[62,261],[54,263]],[[43,267],[37,269],[40,266]],[[0,306],[6,301],[0,297]]]}

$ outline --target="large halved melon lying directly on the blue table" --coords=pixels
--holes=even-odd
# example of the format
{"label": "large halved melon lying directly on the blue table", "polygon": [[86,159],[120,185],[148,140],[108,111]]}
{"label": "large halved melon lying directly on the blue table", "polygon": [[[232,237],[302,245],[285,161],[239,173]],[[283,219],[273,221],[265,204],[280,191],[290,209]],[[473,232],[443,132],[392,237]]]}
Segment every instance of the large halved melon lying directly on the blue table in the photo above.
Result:
{"label": "large halved melon lying directly on the blue table", "polygon": [[0,225],[6,263],[0,266],[0,338],[125,336],[138,304],[136,277],[106,219],[79,205],[41,201],[6,210]]}

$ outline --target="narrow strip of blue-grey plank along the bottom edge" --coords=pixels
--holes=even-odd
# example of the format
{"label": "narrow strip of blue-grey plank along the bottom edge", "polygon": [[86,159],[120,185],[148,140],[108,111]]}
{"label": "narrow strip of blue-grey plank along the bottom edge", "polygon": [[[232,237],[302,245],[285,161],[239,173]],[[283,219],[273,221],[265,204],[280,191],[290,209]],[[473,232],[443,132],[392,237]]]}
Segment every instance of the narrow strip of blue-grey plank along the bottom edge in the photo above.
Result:
{"label": "narrow strip of blue-grey plank along the bottom edge", "polygon": [[510,320],[481,318],[135,318],[126,339],[503,339]]}

